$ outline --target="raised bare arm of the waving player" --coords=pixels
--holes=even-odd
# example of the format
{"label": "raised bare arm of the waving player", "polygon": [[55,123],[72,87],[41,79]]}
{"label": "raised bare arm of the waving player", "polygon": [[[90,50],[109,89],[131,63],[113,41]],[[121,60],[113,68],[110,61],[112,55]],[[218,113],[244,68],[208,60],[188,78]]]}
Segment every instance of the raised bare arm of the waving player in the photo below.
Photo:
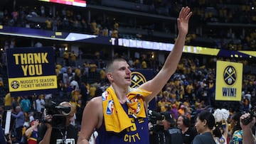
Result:
{"label": "raised bare arm of the waving player", "polygon": [[152,92],[151,96],[146,97],[146,102],[151,101],[151,99],[153,99],[154,96],[156,96],[156,94],[160,92],[162,87],[164,87],[164,84],[168,82],[171,75],[174,74],[174,72],[176,71],[178,62],[181,59],[183,46],[185,45],[186,35],[188,33],[188,21],[191,18],[191,15],[192,12],[190,11],[190,8],[188,6],[181,9],[177,18],[178,37],[174,44],[173,50],[171,50],[171,52],[169,53],[164,63],[164,66],[162,67],[160,72],[156,74],[156,77],[154,77],[154,79],[151,79],[149,82],[141,85],[142,89],[146,89]]}

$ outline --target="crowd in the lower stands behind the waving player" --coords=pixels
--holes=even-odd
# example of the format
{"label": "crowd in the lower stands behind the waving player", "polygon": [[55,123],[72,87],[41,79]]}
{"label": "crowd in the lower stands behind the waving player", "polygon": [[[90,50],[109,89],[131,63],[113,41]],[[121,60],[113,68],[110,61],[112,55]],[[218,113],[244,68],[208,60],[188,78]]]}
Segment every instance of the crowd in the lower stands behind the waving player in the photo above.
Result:
{"label": "crowd in the lower stands behind the waving player", "polygon": [[[68,55],[72,55],[69,52]],[[58,92],[56,94],[40,94],[33,96],[14,96],[11,97],[8,89],[4,91],[7,84],[1,81],[1,91],[5,94],[1,95],[4,103],[1,104],[1,112],[12,109],[14,118],[22,116],[21,123],[16,123],[11,133],[16,140],[23,138],[26,129],[28,129],[34,120],[41,120],[41,109],[45,107],[49,101],[55,101],[57,104],[61,101],[70,101],[76,108],[73,125],[80,128],[82,111],[94,96],[100,96],[108,87],[109,83],[105,79],[105,68],[96,68],[95,63],[87,62],[83,65],[73,65],[70,57],[64,60],[63,57],[56,62],[56,74],[58,77]],[[223,60],[220,59],[219,60]],[[229,60],[234,61],[234,60]],[[192,57],[183,57],[178,65],[178,69],[166,86],[156,97],[156,109],[154,111],[164,112],[171,111],[174,118],[186,115],[193,120],[197,113],[208,109],[228,109],[230,113],[236,111],[247,111],[255,105],[255,75],[245,74],[242,82],[242,100],[241,101],[215,101],[215,60],[209,60],[207,65],[203,65],[198,59]],[[247,65],[246,60],[236,61]],[[143,68],[144,62],[137,65],[133,63],[131,68]],[[72,65],[71,65],[72,64]],[[96,69],[95,69],[96,68]],[[91,70],[95,69],[95,71]],[[103,71],[103,72],[102,72]],[[3,76],[4,73],[1,73]],[[102,74],[101,79],[97,79],[96,75]],[[4,79],[5,77],[3,77]],[[94,79],[88,82],[88,79]],[[97,79],[97,80],[96,80]],[[22,112],[22,113],[21,113]],[[21,114],[18,114],[21,113]],[[192,121],[193,123],[194,121]],[[10,135],[10,136],[11,136]],[[17,136],[18,135],[18,136]],[[17,139],[18,138],[18,139]]]}

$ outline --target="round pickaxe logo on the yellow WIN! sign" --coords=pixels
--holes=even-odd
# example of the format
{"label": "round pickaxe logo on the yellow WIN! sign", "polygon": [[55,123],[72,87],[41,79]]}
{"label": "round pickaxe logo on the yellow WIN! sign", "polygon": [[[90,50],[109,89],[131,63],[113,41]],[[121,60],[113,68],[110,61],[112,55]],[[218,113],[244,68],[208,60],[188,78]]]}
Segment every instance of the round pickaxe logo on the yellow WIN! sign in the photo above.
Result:
{"label": "round pickaxe logo on the yellow WIN! sign", "polygon": [[235,83],[235,80],[237,79],[237,72],[235,71],[235,67],[229,65],[225,68],[223,73],[223,78],[225,81],[225,84],[233,85]]}

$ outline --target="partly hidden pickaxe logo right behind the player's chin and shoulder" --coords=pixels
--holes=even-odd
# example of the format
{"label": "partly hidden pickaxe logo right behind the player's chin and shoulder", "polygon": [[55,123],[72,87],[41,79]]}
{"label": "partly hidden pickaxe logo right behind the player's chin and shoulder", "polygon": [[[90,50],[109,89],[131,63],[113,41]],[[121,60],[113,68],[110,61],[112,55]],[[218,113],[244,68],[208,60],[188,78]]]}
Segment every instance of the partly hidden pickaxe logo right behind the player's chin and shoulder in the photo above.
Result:
{"label": "partly hidden pickaxe logo right behind the player's chin and shoulder", "polygon": [[132,84],[131,84],[132,88],[139,87],[140,85],[142,85],[145,82],[146,82],[146,78],[144,77],[144,75],[142,73],[132,72]]}

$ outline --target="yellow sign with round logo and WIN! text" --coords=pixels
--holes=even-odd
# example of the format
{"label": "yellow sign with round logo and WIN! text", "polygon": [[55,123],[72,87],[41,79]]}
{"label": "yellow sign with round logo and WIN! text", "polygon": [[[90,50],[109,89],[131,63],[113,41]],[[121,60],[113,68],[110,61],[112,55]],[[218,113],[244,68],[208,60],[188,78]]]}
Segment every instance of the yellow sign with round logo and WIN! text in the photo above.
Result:
{"label": "yellow sign with round logo and WIN! text", "polygon": [[215,100],[241,101],[242,63],[217,61]]}

